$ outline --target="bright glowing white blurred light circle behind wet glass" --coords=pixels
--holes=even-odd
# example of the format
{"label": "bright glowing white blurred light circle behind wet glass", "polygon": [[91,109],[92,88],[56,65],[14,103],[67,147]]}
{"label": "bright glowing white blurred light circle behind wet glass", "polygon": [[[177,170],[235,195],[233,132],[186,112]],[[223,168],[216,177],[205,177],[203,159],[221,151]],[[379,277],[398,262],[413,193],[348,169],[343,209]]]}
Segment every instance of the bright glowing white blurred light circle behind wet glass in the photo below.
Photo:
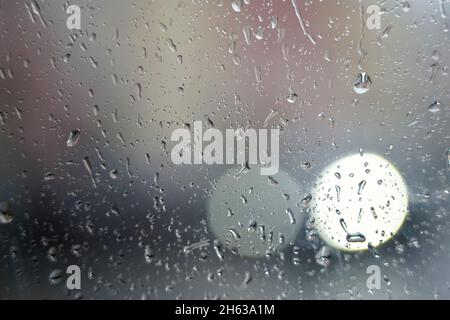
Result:
{"label": "bright glowing white blurred light circle behind wet glass", "polygon": [[330,246],[366,250],[392,238],[408,211],[407,187],[397,169],[370,153],[342,158],[317,179],[313,225]]}

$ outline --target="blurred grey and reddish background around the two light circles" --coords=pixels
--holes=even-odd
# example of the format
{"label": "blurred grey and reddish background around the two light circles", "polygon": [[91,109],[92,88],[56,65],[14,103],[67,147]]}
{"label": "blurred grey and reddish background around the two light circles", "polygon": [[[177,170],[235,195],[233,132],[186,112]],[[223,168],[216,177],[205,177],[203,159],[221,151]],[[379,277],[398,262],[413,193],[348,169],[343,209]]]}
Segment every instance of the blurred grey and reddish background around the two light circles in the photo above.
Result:
{"label": "blurred grey and reddish background around the two light circles", "polygon": [[[69,5],[81,30],[66,27]],[[361,23],[370,5],[379,30]],[[450,298],[447,12],[445,0],[0,0],[0,298]],[[219,248],[208,201],[240,166],[172,164],[172,131],[196,120],[279,128],[299,215],[330,163],[381,155],[407,184],[407,220],[376,251],[328,248],[308,219],[266,257]],[[81,290],[66,289],[72,264]]]}

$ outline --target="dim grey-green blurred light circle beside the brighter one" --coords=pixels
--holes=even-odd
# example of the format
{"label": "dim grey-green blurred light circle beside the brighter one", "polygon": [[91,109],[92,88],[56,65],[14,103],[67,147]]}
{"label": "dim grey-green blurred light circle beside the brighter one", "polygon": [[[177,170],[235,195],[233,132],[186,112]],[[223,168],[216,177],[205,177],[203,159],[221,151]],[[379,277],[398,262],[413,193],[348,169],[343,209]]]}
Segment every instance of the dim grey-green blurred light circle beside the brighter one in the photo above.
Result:
{"label": "dim grey-green blurred light circle beside the brighter one", "polygon": [[285,172],[269,177],[256,166],[232,170],[218,179],[208,201],[209,227],[240,256],[268,256],[295,240],[304,220],[298,199],[299,188]]}

